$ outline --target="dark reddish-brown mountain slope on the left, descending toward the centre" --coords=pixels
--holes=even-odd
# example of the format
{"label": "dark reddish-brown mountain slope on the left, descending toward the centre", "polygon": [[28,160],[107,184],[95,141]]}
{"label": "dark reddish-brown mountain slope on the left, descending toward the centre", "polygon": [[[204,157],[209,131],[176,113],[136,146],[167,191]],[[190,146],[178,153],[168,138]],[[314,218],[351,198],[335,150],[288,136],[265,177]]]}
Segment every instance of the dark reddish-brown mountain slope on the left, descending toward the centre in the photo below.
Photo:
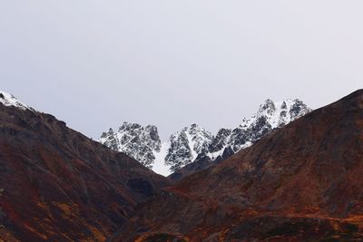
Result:
{"label": "dark reddish-brown mountain slope on the left, descending toward the centre", "polygon": [[103,241],[167,184],[49,114],[0,104],[0,241]]}

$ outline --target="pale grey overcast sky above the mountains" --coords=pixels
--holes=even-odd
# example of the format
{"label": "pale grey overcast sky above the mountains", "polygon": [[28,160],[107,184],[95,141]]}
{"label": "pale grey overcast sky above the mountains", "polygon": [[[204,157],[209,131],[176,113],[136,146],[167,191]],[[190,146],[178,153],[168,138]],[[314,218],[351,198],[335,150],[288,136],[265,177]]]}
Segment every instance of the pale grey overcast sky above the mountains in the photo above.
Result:
{"label": "pale grey overcast sky above the mountains", "polygon": [[0,90],[98,139],[232,128],[362,88],[363,1],[0,0]]}

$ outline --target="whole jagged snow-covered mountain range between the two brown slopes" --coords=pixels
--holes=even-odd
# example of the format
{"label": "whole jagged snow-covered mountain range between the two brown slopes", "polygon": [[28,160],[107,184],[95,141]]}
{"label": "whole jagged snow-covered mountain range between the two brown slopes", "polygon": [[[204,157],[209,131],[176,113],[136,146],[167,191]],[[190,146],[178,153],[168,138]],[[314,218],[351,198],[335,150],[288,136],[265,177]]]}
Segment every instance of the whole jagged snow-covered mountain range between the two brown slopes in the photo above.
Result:
{"label": "whole jagged snow-covered mountain range between the two brown slopes", "polygon": [[[297,99],[267,100],[250,119],[243,119],[239,127],[221,129],[215,136],[191,124],[162,141],[155,126],[124,122],[117,132],[112,129],[103,132],[99,141],[113,150],[125,152],[157,173],[168,176],[173,172],[173,179],[181,179],[195,168],[203,169],[201,163],[207,164],[206,157],[211,161],[224,160],[309,111],[307,105]],[[188,166],[188,171],[182,169],[192,162],[198,164]],[[211,164],[208,162],[208,166]]]}

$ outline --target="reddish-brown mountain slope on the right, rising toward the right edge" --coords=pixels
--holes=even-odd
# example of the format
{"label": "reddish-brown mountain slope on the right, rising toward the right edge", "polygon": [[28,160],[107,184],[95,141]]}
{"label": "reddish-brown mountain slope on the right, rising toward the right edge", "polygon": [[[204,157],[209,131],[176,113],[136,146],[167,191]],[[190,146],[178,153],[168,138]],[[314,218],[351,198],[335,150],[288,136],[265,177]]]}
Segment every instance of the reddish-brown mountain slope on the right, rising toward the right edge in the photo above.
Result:
{"label": "reddish-brown mountain slope on the right, rising toward the right edge", "polygon": [[359,90],[163,189],[112,240],[363,241],[362,227]]}

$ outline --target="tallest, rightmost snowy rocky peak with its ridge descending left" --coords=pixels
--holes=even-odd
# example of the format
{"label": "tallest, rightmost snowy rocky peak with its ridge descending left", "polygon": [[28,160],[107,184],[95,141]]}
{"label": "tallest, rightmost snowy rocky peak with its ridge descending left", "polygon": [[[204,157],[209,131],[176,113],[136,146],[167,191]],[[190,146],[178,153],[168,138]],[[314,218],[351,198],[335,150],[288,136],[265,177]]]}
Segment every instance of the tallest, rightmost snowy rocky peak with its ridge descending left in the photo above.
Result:
{"label": "tallest, rightmost snowy rocky peak with its ridge descending left", "polygon": [[298,99],[286,99],[282,102],[266,100],[259,111],[250,119],[243,119],[239,127],[221,129],[211,141],[208,152],[200,153],[191,164],[174,169],[171,179],[182,179],[196,171],[206,169],[221,160],[226,160],[234,153],[250,147],[257,140],[271,131],[281,128],[290,121],[295,121],[309,113],[311,109]]}

